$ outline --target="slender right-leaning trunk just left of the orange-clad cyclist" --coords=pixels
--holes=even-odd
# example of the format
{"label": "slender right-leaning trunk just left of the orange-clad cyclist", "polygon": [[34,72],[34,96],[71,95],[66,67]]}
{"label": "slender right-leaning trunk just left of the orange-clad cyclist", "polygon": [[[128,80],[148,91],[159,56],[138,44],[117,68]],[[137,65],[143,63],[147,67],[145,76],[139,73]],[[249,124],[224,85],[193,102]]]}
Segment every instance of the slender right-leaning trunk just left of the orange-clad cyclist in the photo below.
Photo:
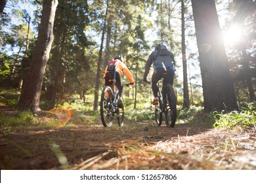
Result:
{"label": "slender right-leaning trunk just left of the orange-clad cyclist", "polygon": [[98,88],[100,86],[100,67],[101,67],[101,63],[102,63],[102,50],[103,50],[104,35],[105,35],[105,31],[106,31],[107,16],[108,16],[108,1],[107,1],[104,25],[103,25],[103,29],[102,29],[100,52],[98,54],[98,67],[97,67],[96,82],[95,82],[95,101],[93,103],[93,110],[97,110],[97,108],[98,108]]}

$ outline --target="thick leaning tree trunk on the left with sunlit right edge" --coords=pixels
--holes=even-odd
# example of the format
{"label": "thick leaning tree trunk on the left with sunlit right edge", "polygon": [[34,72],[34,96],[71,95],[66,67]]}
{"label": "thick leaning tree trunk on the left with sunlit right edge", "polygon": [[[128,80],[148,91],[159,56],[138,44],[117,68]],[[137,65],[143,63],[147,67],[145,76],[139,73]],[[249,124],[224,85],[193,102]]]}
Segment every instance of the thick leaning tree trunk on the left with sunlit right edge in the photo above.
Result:
{"label": "thick leaning tree trunk on the left with sunlit right edge", "polygon": [[41,87],[45,76],[45,67],[49,59],[51,45],[53,43],[53,24],[58,0],[44,0],[41,23],[35,50],[33,52],[28,80],[24,83],[18,108],[30,108],[32,112],[41,110],[39,108]]}

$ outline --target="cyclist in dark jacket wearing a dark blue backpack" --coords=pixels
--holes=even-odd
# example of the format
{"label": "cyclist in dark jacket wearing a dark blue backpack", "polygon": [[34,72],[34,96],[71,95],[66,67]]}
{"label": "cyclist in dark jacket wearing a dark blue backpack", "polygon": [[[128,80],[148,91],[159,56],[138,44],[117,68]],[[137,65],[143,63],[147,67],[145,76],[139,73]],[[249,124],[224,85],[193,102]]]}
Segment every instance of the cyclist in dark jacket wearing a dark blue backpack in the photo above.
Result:
{"label": "cyclist in dark jacket wearing a dark blue backpack", "polygon": [[[146,61],[145,71],[143,81],[146,80],[148,72],[153,63],[154,73],[152,75],[152,92],[154,94],[154,100],[152,105],[158,105],[158,81],[163,77],[163,73],[167,73],[167,84],[173,85],[173,77],[175,75],[175,59],[173,53],[167,50],[166,46],[163,44],[158,44],[148,57]],[[165,71],[166,69],[166,71]]]}

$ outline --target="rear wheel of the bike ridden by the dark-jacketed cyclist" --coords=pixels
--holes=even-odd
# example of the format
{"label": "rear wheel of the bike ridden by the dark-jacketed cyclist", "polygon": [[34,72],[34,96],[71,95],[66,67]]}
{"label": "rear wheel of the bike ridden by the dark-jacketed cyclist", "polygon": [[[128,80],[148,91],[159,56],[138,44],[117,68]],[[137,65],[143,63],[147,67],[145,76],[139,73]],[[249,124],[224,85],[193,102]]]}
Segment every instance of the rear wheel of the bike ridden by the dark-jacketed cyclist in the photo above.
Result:
{"label": "rear wheel of the bike ridden by the dark-jacketed cyclist", "polygon": [[[167,95],[167,108],[165,110],[165,123],[167,126],[174,127],[177,119],[177,99],[173,86],[167,84],[165,86],[165,92]],[[169,120],[171,125],[169,125]]]}

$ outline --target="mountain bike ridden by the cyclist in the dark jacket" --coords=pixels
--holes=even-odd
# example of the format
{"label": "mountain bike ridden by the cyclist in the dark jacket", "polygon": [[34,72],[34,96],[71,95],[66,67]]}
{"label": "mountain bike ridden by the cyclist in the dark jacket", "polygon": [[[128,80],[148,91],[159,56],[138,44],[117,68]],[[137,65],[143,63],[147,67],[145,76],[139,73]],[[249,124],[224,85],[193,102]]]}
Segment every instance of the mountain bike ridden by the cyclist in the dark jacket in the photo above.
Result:
{"label": "mountain bike ridden by the cyclist in the dark jacket", "polygon": [[[177,119],[177,98],[173,86],[167,84],[166,80],[167,73],[163,73],[162,82],[158,82],[158,105],[155,106],[155,120],[156,124],[160,126],[164,115],[167,127],[174,127]],[[162,87],[160,87],[160,83],[163,84]],[[152,84],[152,82],[148,82],[148,84]]]}

